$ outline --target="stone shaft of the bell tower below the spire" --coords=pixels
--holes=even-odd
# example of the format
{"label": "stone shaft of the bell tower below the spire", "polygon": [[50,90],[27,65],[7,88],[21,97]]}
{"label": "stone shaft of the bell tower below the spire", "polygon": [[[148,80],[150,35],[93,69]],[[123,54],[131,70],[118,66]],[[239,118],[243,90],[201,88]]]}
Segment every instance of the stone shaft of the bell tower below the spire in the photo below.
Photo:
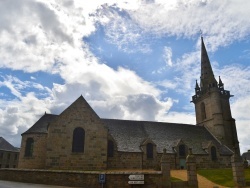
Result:
{"label": "stone shaft of the bell tower below the spire", "polygon": [[[201,104],[205,106],[205,118]],[[235,120],[232,118],[229,95],[221,94],[217,88],[210,88],[195,103],[196,123],[205,126],[222,144],[231,150],[238,144]]]}

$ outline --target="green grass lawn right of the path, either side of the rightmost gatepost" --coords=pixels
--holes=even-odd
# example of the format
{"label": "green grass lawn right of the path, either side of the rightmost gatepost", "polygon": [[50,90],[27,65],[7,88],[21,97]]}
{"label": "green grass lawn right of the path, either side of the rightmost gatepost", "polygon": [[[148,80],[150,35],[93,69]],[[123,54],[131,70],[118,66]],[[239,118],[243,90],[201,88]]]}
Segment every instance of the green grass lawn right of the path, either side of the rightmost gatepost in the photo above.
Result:
{"label": "green grass lawn right of the path, either side of the rightmost gatepost", "polygon": [[[198,170],[198,174],[204,176],[210,181],[226,186],[233,187],[233,172],[232,169],[200,169]],[[250,182],[250,169],[245,169],[245,178],[247,182]]]}

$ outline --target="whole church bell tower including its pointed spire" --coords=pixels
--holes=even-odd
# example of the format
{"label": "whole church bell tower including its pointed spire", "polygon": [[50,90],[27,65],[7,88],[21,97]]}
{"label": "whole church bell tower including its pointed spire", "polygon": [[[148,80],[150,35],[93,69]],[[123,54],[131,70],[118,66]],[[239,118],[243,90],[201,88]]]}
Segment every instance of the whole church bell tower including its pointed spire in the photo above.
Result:
{"label": "whole church bell tower including its pointed spire", "polygon": [[195,105],[196,124],[204,126],[222,144],[232,151],[239,152],[239,141],[232,118],[229,98],[230,91],[224,89],[224,84],[219,77],[219,82],[214,77],[207,50],[201,37],[201,76],[200,85],[196,80],[195,95],[192,102]]}

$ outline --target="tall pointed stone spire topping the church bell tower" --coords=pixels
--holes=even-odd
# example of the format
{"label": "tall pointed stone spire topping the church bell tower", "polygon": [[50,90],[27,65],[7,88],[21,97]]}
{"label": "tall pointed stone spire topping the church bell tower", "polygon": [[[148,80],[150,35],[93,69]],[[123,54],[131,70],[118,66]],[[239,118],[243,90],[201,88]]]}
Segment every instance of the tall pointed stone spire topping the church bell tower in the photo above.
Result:
{"label": "tall pointed stone spire topping the church bell tower", "polygon": [[203,87],[201,89],[203,90],[217,86],[217,81],[214,78],[213,69],[209,61],[207,50],[202,36],[201,36],[201,82]]}

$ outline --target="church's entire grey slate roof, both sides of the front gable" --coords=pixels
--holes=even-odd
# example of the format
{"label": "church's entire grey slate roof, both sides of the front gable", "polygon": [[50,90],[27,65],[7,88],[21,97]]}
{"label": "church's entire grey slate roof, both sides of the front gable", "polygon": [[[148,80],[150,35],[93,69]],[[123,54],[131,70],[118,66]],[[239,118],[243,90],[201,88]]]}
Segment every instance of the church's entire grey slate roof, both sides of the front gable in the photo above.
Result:
{"label": "church's entire grey slate roof, both sides of the front gable", "polygon": [[[48,124],[57,117],[45,114],[23,134],[47,133]],[[232,151],[221,145],[205,127],[150,121],[101,120],[117,143],[118,151],[141,152],[142,143],[150,139],[156,144],[158,153],[162,153],[164,148],[167,149],[167,153],[174,153],[173,147],[182,140],[185,145],[193,149],[194,154],[207,154],[206,149],[210,143],[216,145],[220,154],[232,154]]]}

